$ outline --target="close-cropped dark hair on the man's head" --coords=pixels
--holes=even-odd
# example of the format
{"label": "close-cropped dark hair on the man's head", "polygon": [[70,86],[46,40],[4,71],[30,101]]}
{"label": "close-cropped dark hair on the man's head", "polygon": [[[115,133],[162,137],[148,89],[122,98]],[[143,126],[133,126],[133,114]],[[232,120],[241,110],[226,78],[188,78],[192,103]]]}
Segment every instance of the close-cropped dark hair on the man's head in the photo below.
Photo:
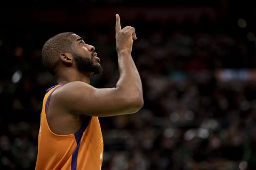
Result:
{"label": "close-cropped dark hair on the man's head", "polygon": [[42,47],[42,63],[53,74],[59,66],[59,54],[71,52],[72,42],[68,39],[72,32],[60,33],[47,40]]}

